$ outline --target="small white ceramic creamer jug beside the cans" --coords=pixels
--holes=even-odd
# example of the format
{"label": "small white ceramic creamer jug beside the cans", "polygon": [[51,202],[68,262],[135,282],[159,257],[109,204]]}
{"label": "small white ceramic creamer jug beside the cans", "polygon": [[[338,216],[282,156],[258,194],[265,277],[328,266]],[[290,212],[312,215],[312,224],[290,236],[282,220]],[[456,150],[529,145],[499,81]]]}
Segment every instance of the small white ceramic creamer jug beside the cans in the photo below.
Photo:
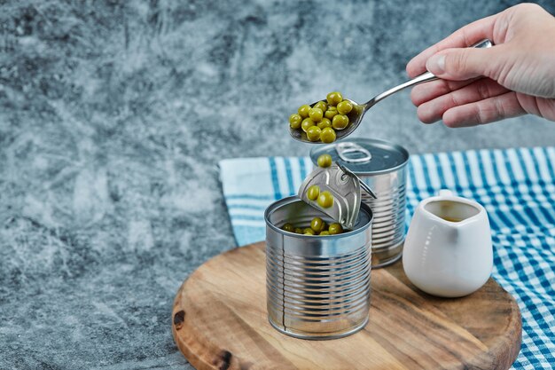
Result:
{"label": "small white ceramic creamer jug beside the cans", "polygon": [[431,295],[469,295],[489,279],[493,250],[481,204],[449,190],[418,204],[404,243],[403,268]]}

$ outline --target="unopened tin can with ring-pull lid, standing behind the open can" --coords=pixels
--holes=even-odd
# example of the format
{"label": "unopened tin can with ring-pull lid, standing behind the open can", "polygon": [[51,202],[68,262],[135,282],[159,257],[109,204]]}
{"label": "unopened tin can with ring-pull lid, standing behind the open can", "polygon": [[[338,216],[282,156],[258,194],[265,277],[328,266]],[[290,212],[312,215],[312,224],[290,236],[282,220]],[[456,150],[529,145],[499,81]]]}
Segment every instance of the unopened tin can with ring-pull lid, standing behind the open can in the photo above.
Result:
{"label": "unopened tin can with ring-pull lid, standing behind the open can", "polygon": [[374,214],[371,264],[375,268],[394,264],[403,254],[409,152],[385,140],[354,138],[312,149],[315,165],[322,154],[332,155],[332,161],[354,172],[376,193],[377,199],[362,196]]}

